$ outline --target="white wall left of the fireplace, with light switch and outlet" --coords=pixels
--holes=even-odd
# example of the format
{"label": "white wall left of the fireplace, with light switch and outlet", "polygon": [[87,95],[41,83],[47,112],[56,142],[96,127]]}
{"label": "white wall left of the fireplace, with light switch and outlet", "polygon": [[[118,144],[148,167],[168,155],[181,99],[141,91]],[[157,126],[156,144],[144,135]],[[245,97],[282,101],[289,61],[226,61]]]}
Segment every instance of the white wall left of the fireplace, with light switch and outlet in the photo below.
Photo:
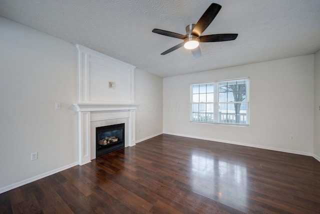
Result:
{"label": "white wall left of the fireplace, with light switch and outlet", "polygon": [[[0,192],[77,161],[77,50],[0,16]],[[55,109],[55,102],[62,108]],[[30,161],[30,153],[38,159]],[[2,190],[2,191],[1,191]]]}

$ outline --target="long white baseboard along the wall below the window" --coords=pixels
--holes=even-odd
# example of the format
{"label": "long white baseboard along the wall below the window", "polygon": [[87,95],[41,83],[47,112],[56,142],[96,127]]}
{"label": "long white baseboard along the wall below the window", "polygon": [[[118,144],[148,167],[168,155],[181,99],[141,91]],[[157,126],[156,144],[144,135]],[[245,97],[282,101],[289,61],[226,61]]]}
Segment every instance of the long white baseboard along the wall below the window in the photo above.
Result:
{"label": "long white baseboard along the wall below the window", "polygon": [[[255,144],[249,144],[249,143],[243,143],[243,142],[229,141],[229,140],[223,140],[223,139],[213,139],[213,138],[208,138],[208,137],[192,136],[192,135],[177,134],[177,133],[170,133],[170,132],[163,132],[163,133],[176,135],[176,136],[190,137],[190,138],[195,138],[195,139],[204,139],[204,140],[210,140],[210,141],[216,141],[216,142],[225,142],[225,143],[230,143],[230,144],[235,144],[235,145],[244,145],[244,146],[249,146],[249,147],[254,147],[254,148],[263,148],[263,149],[268,149],[268,150],[273,150],[273,151],[282,151],[282,152],[293,153],[293,154],[314,156],[314,154],[312,154],[310,152],[297,151],[297,150],[291,150],[291,149],[286,149],[286,148],[277,148],[277,147],[270,147],[270,146],[265,146],[265,145],[255,145]],[[316,157],[314,157],[314,158],[317,159]],[[317,159],[317,160],[319,160],[319,159]]]}

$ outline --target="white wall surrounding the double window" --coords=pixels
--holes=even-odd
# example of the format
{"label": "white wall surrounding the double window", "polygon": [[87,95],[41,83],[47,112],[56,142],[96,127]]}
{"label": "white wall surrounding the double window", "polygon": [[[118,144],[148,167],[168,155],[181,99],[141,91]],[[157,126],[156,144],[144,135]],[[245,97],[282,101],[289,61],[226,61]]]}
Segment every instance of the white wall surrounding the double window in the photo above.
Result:
{"label": "white wall surrounding the double window", "polygon": [[[248,127],[189,121],[191,83],[240,77],[250,77]],[[312,155],[313,54],[163,78],[163,132]]]}

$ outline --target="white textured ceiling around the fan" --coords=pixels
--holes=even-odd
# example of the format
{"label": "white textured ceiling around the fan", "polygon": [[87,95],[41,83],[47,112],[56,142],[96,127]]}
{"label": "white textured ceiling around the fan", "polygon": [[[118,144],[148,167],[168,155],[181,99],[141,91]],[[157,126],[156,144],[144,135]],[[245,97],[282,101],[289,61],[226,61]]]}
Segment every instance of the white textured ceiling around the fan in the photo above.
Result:
{"label": "white textured ceiling around the fan", "polygon": [[[238,33],[200,43],[194,58],[182,42],[151,32],[185,34],[210,3],[221,10],[202,33]],[[320,49],[320,0],[0,0],[0,15],[79,43],[161,77],[314,53]]]}

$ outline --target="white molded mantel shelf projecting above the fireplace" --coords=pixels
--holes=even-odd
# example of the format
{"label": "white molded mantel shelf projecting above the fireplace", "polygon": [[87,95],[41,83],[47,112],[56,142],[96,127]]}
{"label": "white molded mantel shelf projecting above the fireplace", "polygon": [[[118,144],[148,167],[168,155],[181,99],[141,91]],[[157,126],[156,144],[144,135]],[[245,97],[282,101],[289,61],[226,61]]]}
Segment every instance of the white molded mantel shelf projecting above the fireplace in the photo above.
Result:
{"label": "white molded mantel shelf projecting above the fireplace", "polygon": [[135,110],[136,104],[118,104],[118,103],[73,103],[76,111],[118,111]]}

